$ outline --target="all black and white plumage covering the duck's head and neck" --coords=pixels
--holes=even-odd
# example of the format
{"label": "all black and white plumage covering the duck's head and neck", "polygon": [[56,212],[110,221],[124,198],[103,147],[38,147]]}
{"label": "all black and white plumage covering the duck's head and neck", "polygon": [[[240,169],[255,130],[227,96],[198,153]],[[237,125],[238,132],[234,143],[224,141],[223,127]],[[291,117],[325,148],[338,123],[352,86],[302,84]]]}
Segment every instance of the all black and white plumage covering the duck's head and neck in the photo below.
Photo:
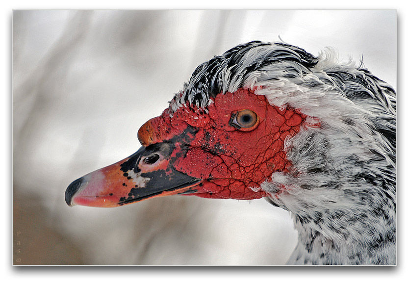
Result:
{"label": "all black and white plumage covering the duck's head and neck", "polygon": [[290,264],[396,262],[396,96],[361,66],[340,63],[332,49],[315,57],[255,41],[200,65],[170,104],[171,112],[186,102],[206,109],[221,92],[251,88],[319,121],[284,142],[290,172],[255,189],[293,216],[299,243]]}

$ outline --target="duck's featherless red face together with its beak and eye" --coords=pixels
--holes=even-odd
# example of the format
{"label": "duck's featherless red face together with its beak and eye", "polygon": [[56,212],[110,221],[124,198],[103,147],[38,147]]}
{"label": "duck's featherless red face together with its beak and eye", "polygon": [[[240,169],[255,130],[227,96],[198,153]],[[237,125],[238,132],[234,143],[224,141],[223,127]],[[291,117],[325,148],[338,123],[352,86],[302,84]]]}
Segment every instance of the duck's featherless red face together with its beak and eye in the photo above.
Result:
{"label": "duck's featherless red face together with its beak and eye", "polygon": [[181,97],[139,129],[136,153],[71,183],[67,204],[116,207],[175,194],[266,196],[260,184],[291,166],[284,140],[299,132],[306,116],[245,88],[217,94],[206,108],[188,101],[175,107]]}

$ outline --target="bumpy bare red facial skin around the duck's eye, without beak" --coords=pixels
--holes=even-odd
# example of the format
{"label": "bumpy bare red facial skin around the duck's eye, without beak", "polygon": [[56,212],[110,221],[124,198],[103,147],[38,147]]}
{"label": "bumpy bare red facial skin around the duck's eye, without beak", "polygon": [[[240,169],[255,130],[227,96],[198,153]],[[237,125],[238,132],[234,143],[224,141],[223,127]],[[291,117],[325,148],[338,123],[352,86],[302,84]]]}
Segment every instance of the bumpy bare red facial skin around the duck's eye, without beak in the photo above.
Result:
{"label": "bumpy bare red facial skin around the duck's eye, without beak", "polygon": [[[280,110],[249,89],[218,94],[213,100],[208,114],[192,105],[180,107],[171,117],[166,109],[140,128],[141,144],[181,138],[171,155],[176,157],[173,167],[203,180],[190,188],[196,193],[186,195],[241,200],[266,196],[251,187],[259,189],[275,171],[288,171],[291,163],[283,150],[284,140],[300,131],[306,115],[290,108]],[[258,116],[251,130],[231,124],[232,114],[243,109]]]}

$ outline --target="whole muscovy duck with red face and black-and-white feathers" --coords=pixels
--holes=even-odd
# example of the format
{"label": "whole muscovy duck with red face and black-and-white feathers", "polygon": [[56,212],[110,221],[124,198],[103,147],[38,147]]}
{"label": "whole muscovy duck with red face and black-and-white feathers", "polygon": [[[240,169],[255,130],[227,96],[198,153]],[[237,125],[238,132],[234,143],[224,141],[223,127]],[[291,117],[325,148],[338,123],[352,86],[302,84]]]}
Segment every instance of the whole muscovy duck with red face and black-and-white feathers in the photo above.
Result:
{"label": "whole muscovy duck with red face and black-and-white feathers", "polygon": [[395,264],[395,125],[395,91],[361,65],[253,41],[201,64],[142,147],[65,200],[264,197],[299,233],[288,264]]}

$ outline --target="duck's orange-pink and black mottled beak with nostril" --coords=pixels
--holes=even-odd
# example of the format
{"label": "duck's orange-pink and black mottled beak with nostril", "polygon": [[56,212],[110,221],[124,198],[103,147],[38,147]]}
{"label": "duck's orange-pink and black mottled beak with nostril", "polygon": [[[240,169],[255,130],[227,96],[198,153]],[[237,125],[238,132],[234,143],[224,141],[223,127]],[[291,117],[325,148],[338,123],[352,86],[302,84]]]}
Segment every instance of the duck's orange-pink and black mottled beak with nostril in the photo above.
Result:
{"label": "duck's orange-pink and black mottled beak with nostril", "polygon": [[65,191],[69,206],[117,207],[153,197],[193,193],[202,180],[173,167],[180,156],[174,145],[158,143],[72,182]]}

